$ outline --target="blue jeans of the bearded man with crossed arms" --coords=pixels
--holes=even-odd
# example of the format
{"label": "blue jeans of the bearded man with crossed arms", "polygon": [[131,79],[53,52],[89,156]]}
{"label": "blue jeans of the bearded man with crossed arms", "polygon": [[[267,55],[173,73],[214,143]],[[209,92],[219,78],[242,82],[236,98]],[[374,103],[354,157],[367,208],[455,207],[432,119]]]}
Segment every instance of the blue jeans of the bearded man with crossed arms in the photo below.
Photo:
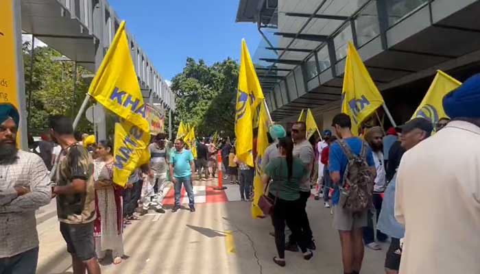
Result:
{"label": "blue jeans of the bearded man with crossed arms", "polygon": [[2,274],[35,274],[38,262],[38,247],[10,258],[0,258]]}

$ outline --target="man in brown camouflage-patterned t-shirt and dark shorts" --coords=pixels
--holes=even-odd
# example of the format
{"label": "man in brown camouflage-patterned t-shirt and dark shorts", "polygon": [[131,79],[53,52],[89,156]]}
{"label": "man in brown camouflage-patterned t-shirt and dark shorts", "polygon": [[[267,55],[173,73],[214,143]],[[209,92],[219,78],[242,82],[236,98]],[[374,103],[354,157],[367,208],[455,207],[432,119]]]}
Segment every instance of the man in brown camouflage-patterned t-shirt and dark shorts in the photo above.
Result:
{"label": "man in brown camouflage-patterned t-shirt and dark shorts", "polygon": [[95,221],[95,187],[93,159],[73,136],[73,127],[66,116],[49,119],[52,139],[62,147],[56,173],[57,214],[60,232],[71,254],[73,273],[100,273],[95,257],[93,221]]}

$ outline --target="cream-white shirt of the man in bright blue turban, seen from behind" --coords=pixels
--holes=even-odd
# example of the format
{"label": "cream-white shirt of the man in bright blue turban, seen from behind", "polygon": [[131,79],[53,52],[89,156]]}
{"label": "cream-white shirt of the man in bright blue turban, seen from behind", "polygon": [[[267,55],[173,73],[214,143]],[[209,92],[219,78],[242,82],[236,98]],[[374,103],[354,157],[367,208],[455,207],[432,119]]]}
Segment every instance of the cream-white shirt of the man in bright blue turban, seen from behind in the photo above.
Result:
{"label": "cream-white shirt of the man in bright blue turban, seen from behind", "polygon": [[451,121],[403,155],[395,196],[405,225],[400,274],[480,273],[479,144],[480,127]]}

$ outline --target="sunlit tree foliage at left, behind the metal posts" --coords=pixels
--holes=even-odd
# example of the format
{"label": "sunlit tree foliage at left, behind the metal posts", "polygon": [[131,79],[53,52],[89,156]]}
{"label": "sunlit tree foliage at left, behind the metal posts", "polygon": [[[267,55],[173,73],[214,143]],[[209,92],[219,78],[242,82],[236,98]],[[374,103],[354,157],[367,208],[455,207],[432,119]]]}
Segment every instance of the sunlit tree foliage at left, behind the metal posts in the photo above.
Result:
{"label": "sunlit tree foliage at left, behind the metal posts", "polygon": [[[77,66],[77,81],[74,84],[74,63],[53,60],[61,56],[50,47],[36,47],[32,75],[31,47],[28,42],[23,45],[27,108],[29,95],[32,95],[29,133],[45,132],[50,115],[63,114],[73,119],[88,91],[88,84],[81,77],[88,72],[81,66]],[[82,119],[77,129],[82,132],[91,132],[91,127],[86,119]]]}

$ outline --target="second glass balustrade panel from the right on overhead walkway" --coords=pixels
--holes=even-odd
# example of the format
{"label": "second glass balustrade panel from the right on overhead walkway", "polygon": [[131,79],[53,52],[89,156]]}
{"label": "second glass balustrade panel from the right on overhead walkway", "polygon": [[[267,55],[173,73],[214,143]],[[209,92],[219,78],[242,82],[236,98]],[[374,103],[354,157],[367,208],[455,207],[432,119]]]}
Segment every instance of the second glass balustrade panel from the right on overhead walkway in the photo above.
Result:
{"label": "second glass balustrade panel from the right on overhead walkway", "polygon": [[376,10],[376,1],[370,2],[355,19],[355,31],[359,47],[370,42],[380,34],[379,12]]}

